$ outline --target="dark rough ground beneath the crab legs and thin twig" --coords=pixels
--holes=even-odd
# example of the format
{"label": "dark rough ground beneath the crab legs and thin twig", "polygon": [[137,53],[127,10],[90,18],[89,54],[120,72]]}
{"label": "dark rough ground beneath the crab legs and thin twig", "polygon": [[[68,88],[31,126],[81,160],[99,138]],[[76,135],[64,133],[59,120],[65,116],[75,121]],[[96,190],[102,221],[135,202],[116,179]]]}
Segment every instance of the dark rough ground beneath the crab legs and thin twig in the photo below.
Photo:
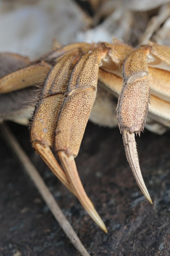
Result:
{"label": "dark rough ground beneath the crab legs and thin twig", "polygon": [[[88,124],[76,162],[104,234],[31,149],[27,128],[10,126],[91,256],[170,255],[170,132],[137,138],[151,205],[132,176],[119,130]],[[78,256],[2,139],[0,148],[0,256]]]}

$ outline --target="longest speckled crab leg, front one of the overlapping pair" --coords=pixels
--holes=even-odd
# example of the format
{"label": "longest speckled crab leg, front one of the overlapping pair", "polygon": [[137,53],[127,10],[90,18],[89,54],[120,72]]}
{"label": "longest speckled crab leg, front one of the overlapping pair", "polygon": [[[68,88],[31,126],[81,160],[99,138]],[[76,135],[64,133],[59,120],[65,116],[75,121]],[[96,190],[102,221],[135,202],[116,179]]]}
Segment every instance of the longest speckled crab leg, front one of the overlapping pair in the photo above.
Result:
{"label": "longest speckled crab leg, front one of the overlapping pair", "polygon": [[107,232],[104,222],[84,191],[74,160],[79,152],[84,130],[95,101],[99,64],[105,55],[106,52],[102,50],[94,50],[82,56],[75,65],[57,122],[55,150],[82,206],[97,225]]}

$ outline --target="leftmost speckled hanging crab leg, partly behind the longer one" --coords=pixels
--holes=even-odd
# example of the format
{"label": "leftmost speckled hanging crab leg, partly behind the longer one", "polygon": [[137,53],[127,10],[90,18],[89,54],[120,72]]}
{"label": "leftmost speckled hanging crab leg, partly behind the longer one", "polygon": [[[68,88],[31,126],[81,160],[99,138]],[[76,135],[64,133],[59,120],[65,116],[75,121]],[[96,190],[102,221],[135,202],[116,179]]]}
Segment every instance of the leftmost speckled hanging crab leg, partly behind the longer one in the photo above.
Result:
{"label": "leftmost speckled hanging crab leg, partly behind the longer one", "polygon": [[75,56],[64,56],[49,73],[42,97],[35,108],[35,113],[31,121],[31,141],[35,151],[42,157],[58,179],[74,193],[66,174],[57,163],[51,148],[54,143],[54,133],[60,109],[64,101],[64,93],[70,70],[78,60]]}

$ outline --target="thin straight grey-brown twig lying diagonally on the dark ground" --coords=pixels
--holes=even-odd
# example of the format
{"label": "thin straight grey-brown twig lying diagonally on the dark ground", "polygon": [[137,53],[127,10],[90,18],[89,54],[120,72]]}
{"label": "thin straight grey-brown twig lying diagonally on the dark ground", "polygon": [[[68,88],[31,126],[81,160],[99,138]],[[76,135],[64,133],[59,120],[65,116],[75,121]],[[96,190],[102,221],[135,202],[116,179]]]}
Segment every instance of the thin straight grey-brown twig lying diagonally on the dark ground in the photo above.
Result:
{"label": "thin straight grey-brown twig lying diagonally on the dark ground", "polygon": [[0,130],[4,135],[4,138],[7,140],[7,143],[17,155],[18,159],[24,166],[26,173],[31,177],[33,180],[35,187],[38,189],[39,193],[41,194],[42,198],[46,202],[47,206],[49,207],[50,211],[53,213],[55,219],[59,222],[60,226],[64,230],[64,233],[68,238],[71,240],[71,243],[75,246],[75,248],[80,252],[82,256],[90,256],[84,246],[82,245],[81,241],[79,240],[77,234],[75,233],[74,229],[71,227],[70,223],[62,213],[59,205],[55,201],[55,198],[49,191],[48,187],[42,180],[42,177],[38,173],[35,166],[31,163],[29,157],[26,155],[24,150],[19,145],[18,141],[15,139],[13,134],[11,133],[9,127],[6,124],[0,124]]}

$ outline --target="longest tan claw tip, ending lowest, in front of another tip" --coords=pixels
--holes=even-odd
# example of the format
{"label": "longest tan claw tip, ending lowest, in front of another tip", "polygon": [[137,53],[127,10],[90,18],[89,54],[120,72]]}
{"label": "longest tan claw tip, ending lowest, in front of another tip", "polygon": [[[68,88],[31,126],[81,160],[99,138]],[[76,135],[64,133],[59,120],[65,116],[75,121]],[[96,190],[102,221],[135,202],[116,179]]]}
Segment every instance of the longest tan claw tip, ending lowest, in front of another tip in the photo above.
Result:
{"label": "longest tan claw tip, ending lowest, in front of another tip", "polygon": [[71,183],[71,186],[76,194],[77,198],[81,202],[84,209],[91,216],[91,218],[95,221],[95,223],[106,233],[108,233],[106,226],[104,225],[103,220],[100,218],[99,214],[95,210],[91,200],[86,195],[84,191],[82,182],[79,178],[77,167],[75,164],[75,160],[73,156],[68,156],[64,151],[59,151],[58,156],[60,158],[60,162],[62,167],[68,177],[68,180]]}

